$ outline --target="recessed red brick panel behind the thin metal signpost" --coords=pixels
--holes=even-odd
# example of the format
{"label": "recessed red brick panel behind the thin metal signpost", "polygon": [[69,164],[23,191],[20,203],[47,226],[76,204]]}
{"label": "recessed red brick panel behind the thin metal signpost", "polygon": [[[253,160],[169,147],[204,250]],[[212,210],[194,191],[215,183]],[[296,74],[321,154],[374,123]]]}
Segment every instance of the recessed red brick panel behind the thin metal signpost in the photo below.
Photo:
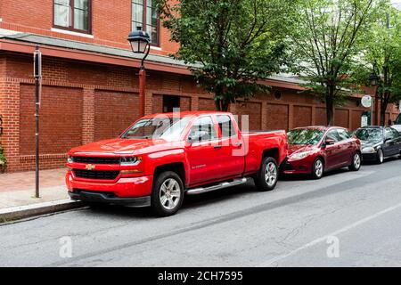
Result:
{"label": "recessed red brick panel behind the thin metal signpost", "polygon": [[[40,153],[59,154],[82,144],[82,89],[43,86]],[[20,85],[20,155],[35,154],[35,85]]]}

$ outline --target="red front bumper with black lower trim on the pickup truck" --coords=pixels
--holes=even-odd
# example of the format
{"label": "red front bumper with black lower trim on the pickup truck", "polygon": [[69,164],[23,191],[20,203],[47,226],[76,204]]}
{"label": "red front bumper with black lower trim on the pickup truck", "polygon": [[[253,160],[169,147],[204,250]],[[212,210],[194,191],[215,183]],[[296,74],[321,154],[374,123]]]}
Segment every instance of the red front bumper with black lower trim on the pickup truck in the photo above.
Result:
{"label": "red front bumper with black lower trim on the pickup truck", "polygon": [[96,199],[119,205],[142,202],[144,206],[148,205],[153,184],[153,176],[118,177],[115,181],[96,181],[76,177],[73,171],[67,172],[65,180],[72,199]]}

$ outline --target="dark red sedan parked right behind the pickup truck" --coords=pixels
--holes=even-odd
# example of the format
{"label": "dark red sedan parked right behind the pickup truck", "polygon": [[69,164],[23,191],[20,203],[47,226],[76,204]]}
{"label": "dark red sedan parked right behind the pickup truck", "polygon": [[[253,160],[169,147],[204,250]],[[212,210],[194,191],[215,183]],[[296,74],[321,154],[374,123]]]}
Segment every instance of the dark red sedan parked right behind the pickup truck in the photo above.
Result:
{"label": "dark red sedan parked right behind the pickup truck", "polygon": [[311,174],[320,179],[331,169],[358,171],[361,167],[361,142],[343,127],[299,127],[288,133],[288,142],[284,174]]}

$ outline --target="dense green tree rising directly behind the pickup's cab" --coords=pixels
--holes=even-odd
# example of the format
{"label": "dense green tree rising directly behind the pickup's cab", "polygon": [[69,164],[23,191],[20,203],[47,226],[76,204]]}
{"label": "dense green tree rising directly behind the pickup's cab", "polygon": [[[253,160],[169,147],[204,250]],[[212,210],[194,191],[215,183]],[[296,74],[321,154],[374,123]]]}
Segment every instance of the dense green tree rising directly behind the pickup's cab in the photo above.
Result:
{"label": "dense green tree rising directly behind the pickup's cab", "polygon": [[280,71],[291,0],[158,0],[160,18],[180,44],[178,60],[214,94],[217,110],[266,92],[259,79]]}

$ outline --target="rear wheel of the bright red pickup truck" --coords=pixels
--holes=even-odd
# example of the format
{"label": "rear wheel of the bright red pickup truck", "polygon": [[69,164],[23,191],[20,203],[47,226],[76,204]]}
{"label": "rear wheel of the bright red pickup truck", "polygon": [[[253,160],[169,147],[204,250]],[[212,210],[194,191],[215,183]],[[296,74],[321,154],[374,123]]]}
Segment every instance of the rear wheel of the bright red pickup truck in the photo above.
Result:
{"label": "rear wheel of the bright red pickup truck", "polygon": [[278,166],[273,158],[265,158],[258,171],[254,176],[255,185],[258,191],[272,191],[278,180]]}

